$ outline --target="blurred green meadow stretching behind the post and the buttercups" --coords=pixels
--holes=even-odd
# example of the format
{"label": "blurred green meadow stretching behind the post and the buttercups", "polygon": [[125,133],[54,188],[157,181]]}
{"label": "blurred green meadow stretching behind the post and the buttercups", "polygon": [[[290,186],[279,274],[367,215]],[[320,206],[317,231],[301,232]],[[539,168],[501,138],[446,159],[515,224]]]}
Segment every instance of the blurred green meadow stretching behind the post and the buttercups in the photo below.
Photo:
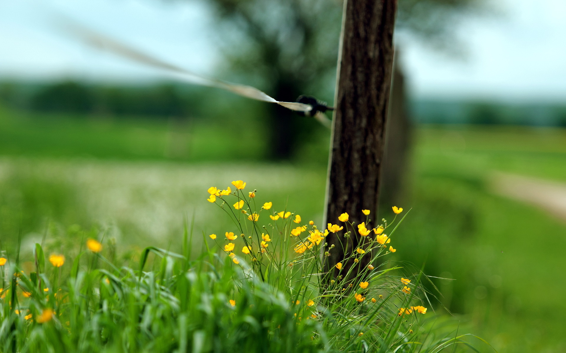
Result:
{"label": "blurred green meadow stretching behind the post and the buttercups", "polygon": [[[2,247],[20,231],[26,250],[45,232],[81,229],[174,247],[193,215],[197,234],[225,231],[227,221],[211,223],[218,213],[205,190],[239,178],[258,202],[321,221],[327,136],[282,165],[261,162],[260,128],[195,123],[179,157],[171,134],[186,140],[168,121],[52,118],[0,113]],[[499,196],[494,172],[566,182],[566,129],[419,127],[397,259],[454,278],[436,281],[441,301],[498,351],[564,351],[566,225]]]}

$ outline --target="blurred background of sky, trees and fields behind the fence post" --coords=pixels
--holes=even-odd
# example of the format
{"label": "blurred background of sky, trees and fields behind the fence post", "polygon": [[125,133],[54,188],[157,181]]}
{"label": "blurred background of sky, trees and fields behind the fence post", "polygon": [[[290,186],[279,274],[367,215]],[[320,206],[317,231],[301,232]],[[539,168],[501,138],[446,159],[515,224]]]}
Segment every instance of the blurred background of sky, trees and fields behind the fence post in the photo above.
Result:
{"label": "blurred background of sky, trees and fields behind the fence post", "polygon": [[[566,351],[566,3],[399,0],[382,207],[499,352]],[[0,251],[89,234],[123,250],[224,232],[206,189],[247,181],[320,223],[329,131],[102,53],[62,16],[280,101],[332,104],[338,0],[0,1]],[[198,249],[198,247],[197,247]],[[431,284],[432,286],[432,284]],[[442,304],[442,305],[441,305]],[[444,308],[443,308],[444,306]]]}

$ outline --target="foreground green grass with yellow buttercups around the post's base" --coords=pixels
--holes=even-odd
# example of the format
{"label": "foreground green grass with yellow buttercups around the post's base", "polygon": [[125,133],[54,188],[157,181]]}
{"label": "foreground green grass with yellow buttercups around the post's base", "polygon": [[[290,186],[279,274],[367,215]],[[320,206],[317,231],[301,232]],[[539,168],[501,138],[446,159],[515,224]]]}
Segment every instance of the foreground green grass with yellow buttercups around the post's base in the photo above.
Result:
{"label": "foreground green grass with yellow buttercups around the post's base", "polygon": [[[208,201],[234,226],[203,234],[196,259],[192,232],[180,251],[148,247],[123,263],[103,236],[84,249],[44,252],[36,243],[29,272],[19,249],[0,258],[0,352],[475,350],[427,308],[426,276],[398,276],[387,261],[396,218],[372,225],[361,210],[362,224],[344,213],[319,229],[271,202],[256,207],[256,190],[232,184],[208,189]],[[329,264],[338,250],[325,246],[329,232],[362,237],[361,246]]]}

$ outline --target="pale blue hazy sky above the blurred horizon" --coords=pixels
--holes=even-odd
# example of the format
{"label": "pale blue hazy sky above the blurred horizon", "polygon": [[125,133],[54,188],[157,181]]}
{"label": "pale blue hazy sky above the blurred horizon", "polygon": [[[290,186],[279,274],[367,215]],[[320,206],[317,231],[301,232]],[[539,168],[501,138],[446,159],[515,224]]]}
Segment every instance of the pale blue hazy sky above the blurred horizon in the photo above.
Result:
{"label": "pale blue hazy sky above the blurred horizon", "polygon": [[[413,97],[566,102],[566,1],[498,0],[493,8],[493,15],[462,19],[453,29],[463,57],[400,38]],[[222,65],[204,2],[0,0],[0,80],[164,78],[79,44],[54,25],[59,15],[193,72],[214,75]]]}

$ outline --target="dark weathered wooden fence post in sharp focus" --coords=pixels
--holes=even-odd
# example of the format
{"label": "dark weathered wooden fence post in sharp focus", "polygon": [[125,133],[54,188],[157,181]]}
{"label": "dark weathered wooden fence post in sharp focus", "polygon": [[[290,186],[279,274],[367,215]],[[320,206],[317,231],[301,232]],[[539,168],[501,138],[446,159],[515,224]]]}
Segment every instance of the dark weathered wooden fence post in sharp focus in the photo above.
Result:
{"label": "dark weathered wooden fence post in sharp focus", "polygon": [[[365,221],[362,210],[375,216],[378,209],[396,8],[396,0],[346,0],[344,5],[328,166],[328,223],[343,225],[338,216],[348,212],[357,225]],[[328,235],[327,246],[335,247],[329,251],[327,271],[336,275],[335,264],[342,262],[346,273],[353,264],[345,259],[365,239],[355,228],[349,238],[342,237],[346,229]]]}

